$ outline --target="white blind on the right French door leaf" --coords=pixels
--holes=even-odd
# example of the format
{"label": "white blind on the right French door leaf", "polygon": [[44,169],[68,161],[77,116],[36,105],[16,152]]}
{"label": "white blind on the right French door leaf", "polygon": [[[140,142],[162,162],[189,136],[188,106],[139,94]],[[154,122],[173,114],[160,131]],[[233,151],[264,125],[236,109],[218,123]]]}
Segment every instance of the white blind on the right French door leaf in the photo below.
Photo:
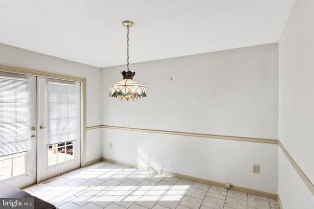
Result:
{"label": "white blind on the right French door leaf", "polygon": [[76,140],[76,86],[47,83],[47,145]]}

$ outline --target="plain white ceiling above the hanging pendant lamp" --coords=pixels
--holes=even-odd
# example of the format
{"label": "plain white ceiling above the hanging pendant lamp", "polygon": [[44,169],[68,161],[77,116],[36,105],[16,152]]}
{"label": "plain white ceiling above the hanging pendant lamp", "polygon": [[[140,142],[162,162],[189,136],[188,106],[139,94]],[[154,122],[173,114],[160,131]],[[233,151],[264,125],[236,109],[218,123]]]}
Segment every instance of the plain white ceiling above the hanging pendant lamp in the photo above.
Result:
{"label": "plain white ceiling above the hanging pendant lamp", "polygon": [[296,0],[0,0],[0,43],[99,68],[276,43]]}

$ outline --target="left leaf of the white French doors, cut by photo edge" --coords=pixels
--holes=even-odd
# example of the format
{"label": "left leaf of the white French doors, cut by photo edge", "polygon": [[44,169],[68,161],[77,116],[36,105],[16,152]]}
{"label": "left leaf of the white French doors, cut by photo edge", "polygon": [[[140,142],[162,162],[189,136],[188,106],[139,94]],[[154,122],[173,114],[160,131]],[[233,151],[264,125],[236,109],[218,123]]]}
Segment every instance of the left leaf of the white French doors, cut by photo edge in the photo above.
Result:
{"label": "left leaf of the white French doors, cut by photo edge", "polygon": [[0,72],[0,180],[36,181],[36,78]]}

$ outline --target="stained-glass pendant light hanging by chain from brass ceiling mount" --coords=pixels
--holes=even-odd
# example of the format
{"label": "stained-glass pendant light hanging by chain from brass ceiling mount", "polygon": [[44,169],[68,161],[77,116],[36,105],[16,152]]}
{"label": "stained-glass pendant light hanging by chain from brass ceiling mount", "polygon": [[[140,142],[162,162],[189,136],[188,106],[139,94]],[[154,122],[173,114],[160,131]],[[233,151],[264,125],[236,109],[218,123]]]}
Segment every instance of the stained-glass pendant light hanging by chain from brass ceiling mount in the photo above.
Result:
{"label": "stained-glass pendant light hanging by chain from brass ceiling mount", "polygon": [[109,96],[118,97],[119,100],[129,99],[136,101],[138,97],[146,96],[146,87],[133,80],[135,72],[129,71],[129,27],[133,26],[131,21],[123,21],[122,25],[127,27],[127,71],[121,72],[123,80],[118,81],[109,88]]}

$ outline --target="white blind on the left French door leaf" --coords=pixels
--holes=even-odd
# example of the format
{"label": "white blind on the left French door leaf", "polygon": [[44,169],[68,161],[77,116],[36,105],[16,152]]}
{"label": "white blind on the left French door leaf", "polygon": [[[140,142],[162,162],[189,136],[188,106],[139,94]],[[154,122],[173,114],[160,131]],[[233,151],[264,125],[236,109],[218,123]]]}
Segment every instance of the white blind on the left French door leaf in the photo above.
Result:
{"label": "white blind on the left French door leaf", "polygon": [[0,156],[28,151],[28,80],[0,76]]}

